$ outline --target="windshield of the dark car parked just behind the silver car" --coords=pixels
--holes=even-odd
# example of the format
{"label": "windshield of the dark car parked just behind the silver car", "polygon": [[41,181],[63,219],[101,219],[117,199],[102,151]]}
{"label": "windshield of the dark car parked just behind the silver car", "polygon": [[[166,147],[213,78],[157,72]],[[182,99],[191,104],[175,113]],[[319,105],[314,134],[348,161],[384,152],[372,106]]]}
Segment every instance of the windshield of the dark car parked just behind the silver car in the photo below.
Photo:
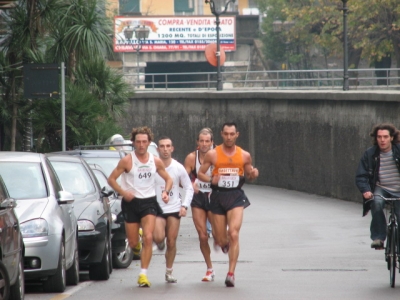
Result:
{"label": "windshield of the dark car parked just behind the silver car", "polygon": [[82,164],[52,161],[63,188],[73,195],[81,196],[93,193],[95,187],[89,173]]}

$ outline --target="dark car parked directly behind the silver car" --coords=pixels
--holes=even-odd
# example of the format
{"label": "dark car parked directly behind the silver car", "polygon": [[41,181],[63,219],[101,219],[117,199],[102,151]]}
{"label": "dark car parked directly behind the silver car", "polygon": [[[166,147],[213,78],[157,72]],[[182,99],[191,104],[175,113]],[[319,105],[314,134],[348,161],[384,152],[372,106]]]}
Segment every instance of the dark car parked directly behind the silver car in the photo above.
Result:
{"label": "dark car parked directly behind the silver car", "polygon": [[101,188],[89,165],[81,157],[47,154],[61,184],[75,197],[78,219],[79,265],[89,269],[91,280],[107,280],[112,272],[112,191]]}

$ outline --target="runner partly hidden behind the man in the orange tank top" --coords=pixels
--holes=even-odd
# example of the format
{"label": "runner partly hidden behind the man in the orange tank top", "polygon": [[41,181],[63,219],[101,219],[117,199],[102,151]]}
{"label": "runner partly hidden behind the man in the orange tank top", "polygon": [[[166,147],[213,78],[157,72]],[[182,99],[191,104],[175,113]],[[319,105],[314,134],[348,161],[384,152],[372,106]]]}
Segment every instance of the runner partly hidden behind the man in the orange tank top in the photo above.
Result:
{"label": "runner partly hidden behind the man in the orange tank top", "polygon": [[[214,280],[215,272],[211,262],[211,250],[208,244],[207,221],[211,218],[208,195],[211,192],[209,182],[203,182],[197,178],[197,173],[203,163],[204,156],[213,147],[213,133],[209,128],[200,130],[197,136],[197,150],[187,155],[185,159],[186,172],[191,176],[194,188],[192,199],[192,218],[200,241],[200,251],[207,265],[206,275],[202,278],[204,282]],[[211,167],[206,170],[211,176]]]}

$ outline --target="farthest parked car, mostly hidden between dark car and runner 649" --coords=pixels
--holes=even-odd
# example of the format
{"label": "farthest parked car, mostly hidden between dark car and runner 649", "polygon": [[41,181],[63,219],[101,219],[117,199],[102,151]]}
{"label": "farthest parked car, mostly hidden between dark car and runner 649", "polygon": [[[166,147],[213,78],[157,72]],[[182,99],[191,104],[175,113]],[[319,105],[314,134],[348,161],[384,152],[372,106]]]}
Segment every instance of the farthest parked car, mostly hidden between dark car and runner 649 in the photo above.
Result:
{"label": "farthest parked car, mostly hidden between dark car and runner 649", "polygon": [[[97,164],[89,164],[96,175],[100,186],[106,186],[108,189],[112,188],[108,185],[107,176],[103,169]],[[129,246],[128,239],[126,238],[125,221],[121,212],[121,199],[114,192],[110,196],[111,215],[113,218],[112,223],[112,261],[113,267],[117,269],[127,268],[130,266],[134,255],[131,247]]]}

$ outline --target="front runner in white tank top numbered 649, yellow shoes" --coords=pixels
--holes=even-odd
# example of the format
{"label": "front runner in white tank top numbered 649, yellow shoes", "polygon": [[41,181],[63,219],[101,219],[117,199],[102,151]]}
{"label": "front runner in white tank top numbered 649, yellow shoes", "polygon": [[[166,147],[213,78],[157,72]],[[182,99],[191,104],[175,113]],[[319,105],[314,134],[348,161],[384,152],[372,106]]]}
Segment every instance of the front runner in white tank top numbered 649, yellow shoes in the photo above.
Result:
{"label": "front runner in white tank top numbered 649, yellow shoes", "polygon": [[[141,270],[138,284],[140,287],[150,287],[147,269],[153,252],[153,231],[156,216],[162,213],[156,198],[155,175],[165,181],[162,200],[168,203],[172,188],[172,179],[158,157],[147,151],[153,133],[148,127],[134,128],[131,141],[134,151],[122,158],[117,167],[108,177],[108,183],[121,195],[121,209],[125,219],[126,236],[129,246],[134,249],[139,243],[139,228],[143,230],[143,249],[141,253]],[[121,176],[121,186],[117,179]]]}

